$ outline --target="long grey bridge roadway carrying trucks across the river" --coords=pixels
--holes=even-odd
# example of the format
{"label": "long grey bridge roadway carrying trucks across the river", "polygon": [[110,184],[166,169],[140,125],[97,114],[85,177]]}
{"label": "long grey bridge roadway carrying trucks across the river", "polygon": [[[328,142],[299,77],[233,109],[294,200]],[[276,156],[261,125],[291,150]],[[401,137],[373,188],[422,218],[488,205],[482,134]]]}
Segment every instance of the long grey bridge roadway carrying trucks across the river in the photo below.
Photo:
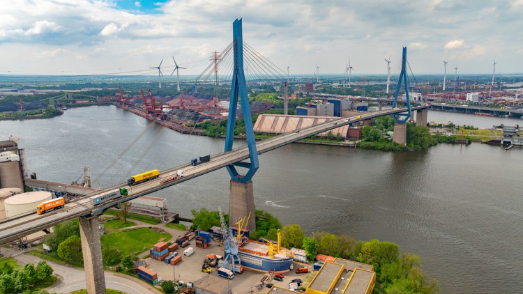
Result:
{"label": "long grey bridge roadway carrying trucks across the river", "polygon": [[[426,108],[427,107],[424,105],[420,107],[412,107],[412,110]],[[350,118],[340,118],[334,121],[329,121],[327,123],[321,123],[319,125],[313,125],[311,127],[306,127],[301,130],[296,130],[295,132],[281,134],[270,139],[257,141],[257,152],[259,154],[266,153],[267,151],[273,150],[275,148],[291,144],[295,141],[305,139],[307,137],[311,137],[314,134],[326,132],[336,127],[341,127],[350,123],[356,123],[358,121],[364,121],[370,118],[376,118],[378,116],[397,114],[406,110],[407,109],[402,108],[362,113],[359,116],[352,116]],[[44,215],[37,215],[36,213],[33,213],[31,215],[19,217],[17,219],[10,219],[6,222],[0,223],[0,244],[5,244],[7,242],[22,238],[25,235],[36,233],[38,231],[42,231],[43,229],[48,229],[52,226],[55,226],[56,224],[66,222],[70,219],[75,219],[77,217],[88,215],[100,215],[103,212],[103,210],[115,206],[118,203],[129,201],[139,196],[156,192],[160,189],[165,189],[166,187],[176,185],[178,183],[184,182],[185,180],[190,180],[191,178],[196,178],[197,176],[202,176],[205,173],[221,169],[222,167],[227,167],[227,165],[229,164],[241,162],[242,160],[246,160],[248,158],[248,146],[234,148],[229,152],[212,155],[211,161],[206,162],[204,164],[199,164],[194,167],[190,164],[184,164],[180,167],[175,167],[173,169],[168,169],[167,171],[162,171],[160,173],[159,178],[156,178],[155,180],[151,180],[146,183],[142,183],[135,186],[121,184],[111,187],[109,189],[103,189],[100,192],[93,193],[90,196],[109,194],[114,191],[119,191],[120,187],[126,187],[128,189],[128,196],[121,197],[119,199],[114,199],[112,201],[107,201],[107,203],[102,203],[96,207],[91,206],[88,196],[84,199],[79,199],[77,201],[67,203],[65,208],[55,210],[54,212],[47,212]],[[174,176],[176,176],[177,174],[177,171],[179,170],[183,171],[183,178],[177,178],[176,180],[172,180],[167,183],[160,183],[162,180],[165,180],[167,178],[174,178]]]}

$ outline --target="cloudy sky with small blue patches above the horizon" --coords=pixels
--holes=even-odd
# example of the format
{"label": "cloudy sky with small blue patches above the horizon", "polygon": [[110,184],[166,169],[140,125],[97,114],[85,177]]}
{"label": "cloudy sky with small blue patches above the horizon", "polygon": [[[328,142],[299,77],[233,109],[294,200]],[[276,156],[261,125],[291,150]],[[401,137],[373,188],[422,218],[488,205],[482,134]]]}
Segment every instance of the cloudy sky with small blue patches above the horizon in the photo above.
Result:
{"label": "cloudy sky with small blue patches above the horizon", "polygon": [[198,75],[243,40],[290,75],[523,72],[523,0],[15,0],[0,10],[0,75]]}

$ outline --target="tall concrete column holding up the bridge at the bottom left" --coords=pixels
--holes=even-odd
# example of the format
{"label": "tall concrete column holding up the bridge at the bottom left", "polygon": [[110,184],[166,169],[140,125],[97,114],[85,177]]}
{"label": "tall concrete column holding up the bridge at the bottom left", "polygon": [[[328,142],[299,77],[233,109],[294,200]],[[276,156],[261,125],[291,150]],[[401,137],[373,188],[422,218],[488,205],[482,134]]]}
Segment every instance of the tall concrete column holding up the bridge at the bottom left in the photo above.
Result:
{"label": "tall concrete column holding up the bridge at the bottom left", "polygon": [[87,293],[105,293],[105,276],[103,273],[102,245],[100,243],[99,230],[100,223],[96,217],[80,217],[79,224]]}

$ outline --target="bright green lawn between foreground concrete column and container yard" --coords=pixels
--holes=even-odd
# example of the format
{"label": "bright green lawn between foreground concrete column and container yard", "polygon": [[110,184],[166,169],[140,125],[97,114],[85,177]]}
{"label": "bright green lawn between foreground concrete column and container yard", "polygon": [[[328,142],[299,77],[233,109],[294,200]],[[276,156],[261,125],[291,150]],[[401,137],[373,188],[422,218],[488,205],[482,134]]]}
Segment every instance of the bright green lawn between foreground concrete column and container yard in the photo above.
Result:
{"label": "bright green lawn between foreground concrete column and container yard", "polygon": [[169,240],[171,234],[160,234],[149,228],[120,231],[102,236],[102,244],[110,245],[121,250],[121,256],[128,256],[136,252],[144,252],[151,248],[160,238]]}

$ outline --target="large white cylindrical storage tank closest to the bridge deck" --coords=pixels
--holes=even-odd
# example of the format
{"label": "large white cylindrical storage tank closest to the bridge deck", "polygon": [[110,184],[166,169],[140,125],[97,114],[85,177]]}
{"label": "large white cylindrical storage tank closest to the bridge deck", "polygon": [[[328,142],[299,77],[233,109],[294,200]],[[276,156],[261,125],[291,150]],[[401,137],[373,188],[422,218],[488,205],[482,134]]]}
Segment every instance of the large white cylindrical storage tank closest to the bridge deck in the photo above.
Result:
{"label": "large white cylindrical storage tank closest to the bridge deck", "polygon": [[45,191],[26,192],[10,196],[4,203],[6,206],[6,217],[16,217],[27,212],[35,212],[38,204],[51,199],[51,192]]}

